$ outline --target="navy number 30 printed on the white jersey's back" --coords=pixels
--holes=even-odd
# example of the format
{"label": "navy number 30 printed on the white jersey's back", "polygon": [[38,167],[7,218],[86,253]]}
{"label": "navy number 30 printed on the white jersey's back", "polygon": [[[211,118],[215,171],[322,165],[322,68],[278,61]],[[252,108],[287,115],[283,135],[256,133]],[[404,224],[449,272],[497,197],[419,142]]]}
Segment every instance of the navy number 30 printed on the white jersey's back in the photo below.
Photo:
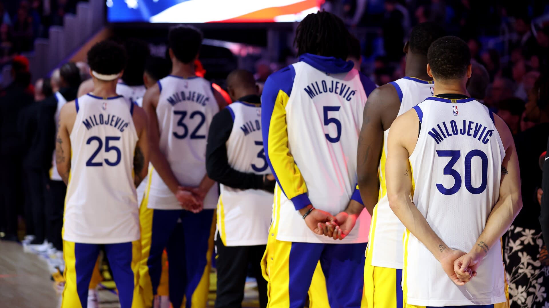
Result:
{"label": "navy number 30 printed on the white jersey's back", "polygon": [[[438,189],[444,195],[450,196],[458,192],[461,189],[461,175],[456,169],[452,167],[457,163],[461,157],[461,151],[436,151],[436,155],[439,157],[451,157],[450,162],[446,164],[442,170],[445,175],[451,175],[454,183],[451,188],[446,188],[442,184],[436,184]],[[482,161],[482,182],[479,187],[473,187],[471,184],[471,160],[473,157],[478,156]],[[486,190],[486,179],[488,178],[488,157],[483,151],[472,150],[465,156],[465,188],[474,195],[484,192]]]}

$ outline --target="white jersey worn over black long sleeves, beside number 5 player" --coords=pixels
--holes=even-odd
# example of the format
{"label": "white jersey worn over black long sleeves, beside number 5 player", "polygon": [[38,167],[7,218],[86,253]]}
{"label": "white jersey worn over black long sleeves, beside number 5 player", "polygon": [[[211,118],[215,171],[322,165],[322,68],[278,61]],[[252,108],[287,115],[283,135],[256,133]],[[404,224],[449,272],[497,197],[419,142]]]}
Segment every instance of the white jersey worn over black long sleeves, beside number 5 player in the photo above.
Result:
{"label": "white jersey worn over black long sleeves, beside number 5 player", "polygon": [[[237,101],[227,108],[233,116],[233,129],[226,142],[229,166],[239,172],[270,174],[261,136],[261,107]],[[275,196],[264,190],[220,186],[217,231],[223,244],[267,244]]]}

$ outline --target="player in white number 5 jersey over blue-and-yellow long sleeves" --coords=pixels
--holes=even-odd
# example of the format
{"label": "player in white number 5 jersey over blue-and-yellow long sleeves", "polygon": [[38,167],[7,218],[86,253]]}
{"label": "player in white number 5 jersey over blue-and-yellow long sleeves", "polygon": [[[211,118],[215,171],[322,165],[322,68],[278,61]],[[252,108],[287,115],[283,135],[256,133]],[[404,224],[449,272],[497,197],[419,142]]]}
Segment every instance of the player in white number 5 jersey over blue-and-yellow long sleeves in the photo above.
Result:
{"label": "player in white number 5 jersey over blue-and-yellow long sleeves", "polygon": [[[261,96],[263,144],[277,179],[261,264],[272,307],[303,307],[319,260],[329,303],[318,306],[362,302],[368,213],[333,216],[349,204],[363,207],[356,189],[356,144],[366,89],[375,87],[345,61],[349,37],[337,16],[307,15],[295,37],[300,61],[268,77]],[[345,230],[355,221],[356,226],[334,241],[323,235],[321,224],[328,221]]]}

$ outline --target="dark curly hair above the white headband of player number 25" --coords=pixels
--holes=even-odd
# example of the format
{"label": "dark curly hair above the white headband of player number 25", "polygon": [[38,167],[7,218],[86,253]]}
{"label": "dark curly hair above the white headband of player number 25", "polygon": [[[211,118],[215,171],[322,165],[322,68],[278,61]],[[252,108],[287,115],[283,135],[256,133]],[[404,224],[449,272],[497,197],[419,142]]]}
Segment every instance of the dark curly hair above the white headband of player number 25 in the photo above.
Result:
{"label": "dark curly hair above the white headband of player number 25", "polygon": [[113,41],[101,41],[88,51],[89,68],[103,75],[120,73],[127,59],[124,46]]}

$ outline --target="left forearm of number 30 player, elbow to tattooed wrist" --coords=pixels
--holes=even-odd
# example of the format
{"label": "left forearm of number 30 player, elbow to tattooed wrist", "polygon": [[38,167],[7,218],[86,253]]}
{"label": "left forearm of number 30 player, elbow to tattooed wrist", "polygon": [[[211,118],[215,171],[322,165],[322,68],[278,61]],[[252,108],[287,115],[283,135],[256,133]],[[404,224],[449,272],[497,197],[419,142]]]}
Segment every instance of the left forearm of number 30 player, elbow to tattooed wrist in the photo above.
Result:
{"label": "left forearm of number 30 player, elbow to tattooed wrist", "polygon": [[402,224],[440,260],[450,249],[431,229],[425,217],[410,200],[410,193],[389,195],[389,206]]}

